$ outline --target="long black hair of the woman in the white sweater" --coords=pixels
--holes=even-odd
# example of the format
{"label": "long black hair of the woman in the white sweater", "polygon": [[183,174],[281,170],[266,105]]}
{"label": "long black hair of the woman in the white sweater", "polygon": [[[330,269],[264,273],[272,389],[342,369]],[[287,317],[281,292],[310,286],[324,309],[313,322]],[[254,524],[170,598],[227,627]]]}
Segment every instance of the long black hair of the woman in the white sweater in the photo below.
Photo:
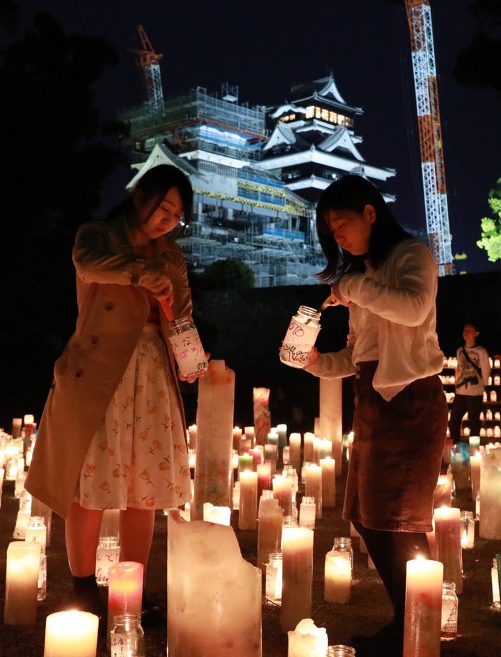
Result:
{"label": "long black hair of the woman in the white sweater", "polygon": [[[352,255],[337,245],[326,216],[329,210],[351,210],[362,214],[366,205],[372,205],[376,212],[369,249],[365,255]],[[401,228],[372,182],[360,175],[344,175],[324,189],[317,203],[316,219],[320,246],[327,258],[326,268],[317,274],[322,283],[336,283],[348,271],[365,271],[365,260],[377,269],[396,244],[412,237]]]}

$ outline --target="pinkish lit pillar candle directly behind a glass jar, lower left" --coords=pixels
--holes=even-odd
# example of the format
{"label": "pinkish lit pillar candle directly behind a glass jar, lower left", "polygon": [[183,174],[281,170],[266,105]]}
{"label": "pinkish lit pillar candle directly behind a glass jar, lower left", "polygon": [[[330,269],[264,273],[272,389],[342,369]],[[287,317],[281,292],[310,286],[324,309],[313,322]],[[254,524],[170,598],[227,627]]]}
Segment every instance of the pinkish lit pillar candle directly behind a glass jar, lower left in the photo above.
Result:
{"label": "pinkish lit pillar candle directly behind a glass jar, lower left", "polygon": [[141,614],[144,567],[135,561],[113,564],[108,584],[108,636],[118,614]]}

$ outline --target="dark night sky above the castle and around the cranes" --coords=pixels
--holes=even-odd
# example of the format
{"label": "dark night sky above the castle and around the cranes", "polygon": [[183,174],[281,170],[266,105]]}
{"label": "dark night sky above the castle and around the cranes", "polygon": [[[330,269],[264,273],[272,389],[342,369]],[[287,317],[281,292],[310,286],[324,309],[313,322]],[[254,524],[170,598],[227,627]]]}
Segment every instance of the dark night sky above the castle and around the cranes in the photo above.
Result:
{"label": "dark night sky above the castle and around the cranes", "polygon": [[[456,53],[475,29],[470,0],[434,0],[438,93],[453,255],[466,253],[456,271],[501,271],[475,242],[480,220],[491,216],[487,198],[501,177],[501,100],[491,90],[461,87],[452,77]],[[136,27],[143,24],[154,49],[164,54],[164,97],[201,86],[220,93],[239,87],[249,106],[285,102],[294,84],[332,70],[344,100],[361,107],[355,132],[368,163],[395,168],[385,191],[397,196],[401,223],[426,229],[415,116],[411,41],[404,0],[331,0],[317,6],[276,0],[191,2],[178,0],[23,0],[52,13],[67,31],[99,35],[115,45],[120,64],[99,92],[104,116],[143,100],[136,56]]]}

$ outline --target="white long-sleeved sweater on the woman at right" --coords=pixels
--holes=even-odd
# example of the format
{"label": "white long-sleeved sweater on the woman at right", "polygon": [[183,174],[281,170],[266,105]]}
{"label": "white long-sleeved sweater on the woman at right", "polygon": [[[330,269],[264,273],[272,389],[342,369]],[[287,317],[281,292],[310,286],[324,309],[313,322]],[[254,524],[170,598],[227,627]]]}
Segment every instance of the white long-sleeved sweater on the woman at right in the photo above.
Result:
{"label": "white long-sleeved sweater on the woman at right", "polygon": [[379,361],[373,386],[387,400],[408,383],[441,372],[437,280],[433,255],[415,239],[397,244],[379,269],[343,276],[340,293],[351,301],[347,346],[319,354],[308,372],[337,379],[354,374],[356,363]]}

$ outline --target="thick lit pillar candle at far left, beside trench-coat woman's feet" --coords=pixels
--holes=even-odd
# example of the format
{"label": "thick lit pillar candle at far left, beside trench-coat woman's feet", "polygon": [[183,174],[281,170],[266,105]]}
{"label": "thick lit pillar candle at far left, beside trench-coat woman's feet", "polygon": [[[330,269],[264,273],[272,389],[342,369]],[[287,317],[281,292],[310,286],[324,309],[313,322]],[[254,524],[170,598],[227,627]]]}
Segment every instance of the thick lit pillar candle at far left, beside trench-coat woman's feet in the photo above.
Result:
{"label": "thick lit pillar candle at far left, beside trench-coat woman's feet", "polygon": [[7,548],[3,622],[33,625],[37,615],[40,544],[14,541]]}

